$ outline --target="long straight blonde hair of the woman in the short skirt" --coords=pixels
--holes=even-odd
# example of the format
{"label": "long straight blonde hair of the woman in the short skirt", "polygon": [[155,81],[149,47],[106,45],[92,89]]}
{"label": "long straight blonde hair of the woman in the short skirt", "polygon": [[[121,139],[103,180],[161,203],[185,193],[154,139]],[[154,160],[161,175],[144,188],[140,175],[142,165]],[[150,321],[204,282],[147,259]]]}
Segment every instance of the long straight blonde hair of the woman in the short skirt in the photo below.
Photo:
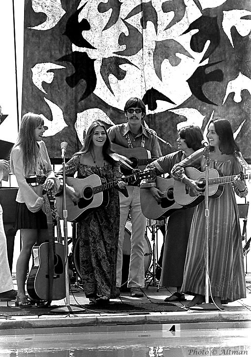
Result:
{"label": "long straight blonde hair of the woman in the short skirt", "polygon": [[40,125],[44,125],[44,120],[41,115],[34,113],[26,113],[21,119],[21,124],[18,132],[18,138],[11,150],[10,168],[13,170],[12,151],[16,146],[20,146],[23,152],[24,174],[27,176],[32,168],[36,168],[36,161],[39,155],[39,148],[35,140],[34,130]]}

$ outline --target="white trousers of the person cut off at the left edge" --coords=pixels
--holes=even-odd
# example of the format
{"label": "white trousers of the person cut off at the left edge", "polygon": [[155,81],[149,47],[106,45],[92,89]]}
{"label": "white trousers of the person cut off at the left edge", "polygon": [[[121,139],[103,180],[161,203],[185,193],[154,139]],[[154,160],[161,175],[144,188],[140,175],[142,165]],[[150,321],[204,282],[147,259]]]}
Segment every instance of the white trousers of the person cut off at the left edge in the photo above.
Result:
{"label": "white trousers of the person cut off at the left edge", "polygon": [[7,242],[2,222],[2,206],[0,205],[0,292],[13,289],[12,278],[7,256]]}

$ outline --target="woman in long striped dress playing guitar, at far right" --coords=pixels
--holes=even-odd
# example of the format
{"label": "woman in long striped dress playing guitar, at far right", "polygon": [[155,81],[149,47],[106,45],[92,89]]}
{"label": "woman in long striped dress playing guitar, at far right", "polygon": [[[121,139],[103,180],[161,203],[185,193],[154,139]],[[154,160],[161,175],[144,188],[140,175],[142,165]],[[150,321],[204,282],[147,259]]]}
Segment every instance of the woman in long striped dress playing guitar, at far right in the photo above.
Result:
{"label": "woman in long striped dress playing guitar, at far right", "polygon": [[[238,175],[242,167],[236,155],[241,155],[233,138],[229,121],[212,120],[208,127],[209,147],[190,155],[174,165],[171,173],[190,187],[194,195],[201,195],[199,181],[191,180],[185,167],[217,169],[224,176]],[[248,194],[246,183],[235,179],[224,184],[222,195],[209,196],[209,294],[214,303],[223,309],[222,303],[246,297],[245,273],[238,207],[235,193],[240,197]],[[182,291],[194,295],[188,308],[201,304],[205,299],[205,201],[195,207],[188,240]]]}

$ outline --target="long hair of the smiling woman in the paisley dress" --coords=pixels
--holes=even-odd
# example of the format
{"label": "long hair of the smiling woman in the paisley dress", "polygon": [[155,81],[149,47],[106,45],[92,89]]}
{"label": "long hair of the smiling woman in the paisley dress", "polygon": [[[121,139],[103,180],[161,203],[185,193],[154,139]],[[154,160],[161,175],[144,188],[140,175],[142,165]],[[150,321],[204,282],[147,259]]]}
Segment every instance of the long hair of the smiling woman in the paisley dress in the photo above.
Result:
{"label": "long hair of the smiling woman in the paisley dress", "polygon": [[106,130],[104,124],[99,120],[95,120],[90,125],[90,127],[87,130],[87,133],[86,133],[86,136],[85,136],[85,139],[84,139],[84,144],[83,144],[82,148],[80,149],[80,151],[75,153],[73,156],[86,154],[88,152],[91,152],[91,150],[93,149],[93,145],[94,145],[93,144],[93,134],[94,134],[94,130],[97,127],[102,127],[104,129],[104,131],[105,131],[105,134],[106,134],[106,140],[105,140],[104,145],[102,147],[102,153],[103,153],[104,159],[113,164],[114,160],[110,157],[110,154],[111,154],[111,141],[109,139],[109,136],[108,136],[108,133],[107,133],[107,130]]}

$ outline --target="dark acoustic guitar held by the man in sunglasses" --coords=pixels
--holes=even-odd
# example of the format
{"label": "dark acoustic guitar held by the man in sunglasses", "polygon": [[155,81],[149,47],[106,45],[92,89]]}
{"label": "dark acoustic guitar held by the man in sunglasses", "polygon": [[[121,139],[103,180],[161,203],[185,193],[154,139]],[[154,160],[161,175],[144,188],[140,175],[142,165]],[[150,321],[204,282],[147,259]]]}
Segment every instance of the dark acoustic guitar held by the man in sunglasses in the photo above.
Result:
{"label": "dark acoustic guitar held by the man in sunglasses", "polygon": [[111,143],[111,149],[119,155],[126,156],[126,158],[132,162],[131,167],[138,168],[140,170],[144,170],[144,168],[148,163],[151,163],[158,159],[158,158],[151,158],[150,151],[143,147],[130,149],[130,148],[125,148],[124,146],[118,144]]}

